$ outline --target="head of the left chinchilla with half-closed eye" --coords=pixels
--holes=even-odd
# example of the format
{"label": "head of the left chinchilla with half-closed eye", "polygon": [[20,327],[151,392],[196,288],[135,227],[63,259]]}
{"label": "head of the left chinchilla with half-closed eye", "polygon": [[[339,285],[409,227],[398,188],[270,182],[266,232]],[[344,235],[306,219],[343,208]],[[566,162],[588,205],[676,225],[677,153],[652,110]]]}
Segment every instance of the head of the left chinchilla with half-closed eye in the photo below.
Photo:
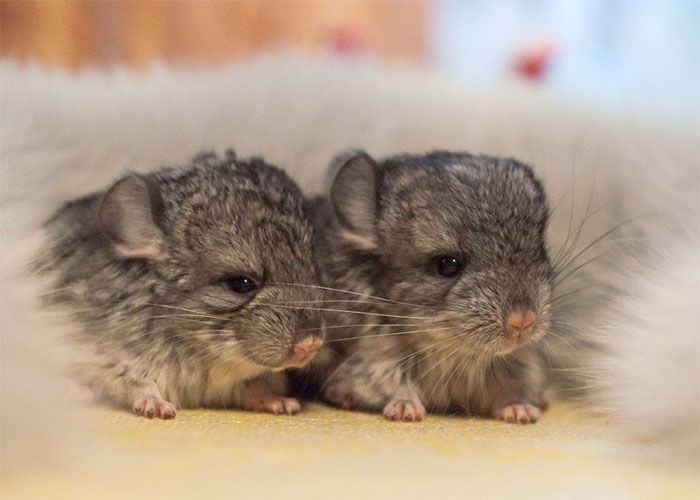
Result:
{"label": "head of the left chinchilla with half-closed eye", "polygon": [[114,280],[151,276],[157,329],[211,356],[283,368],[308,362],[322,339],[307,212],[277,168],[210,154],[121,179],[97,225],[114,259],[143,263]]}

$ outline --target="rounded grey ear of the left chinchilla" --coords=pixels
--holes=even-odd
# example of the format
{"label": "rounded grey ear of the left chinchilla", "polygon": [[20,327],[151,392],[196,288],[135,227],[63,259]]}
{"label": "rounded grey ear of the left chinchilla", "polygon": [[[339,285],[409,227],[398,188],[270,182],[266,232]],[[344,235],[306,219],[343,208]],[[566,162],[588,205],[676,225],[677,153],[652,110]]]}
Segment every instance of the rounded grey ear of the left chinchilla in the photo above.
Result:
{"label": "rounded grey ear of the left chinchilla", "polygon": [[97,219],[105,238],[122,256],[162,256],[163,199],[148,179],[131,174],[114,184],[102,198]]}

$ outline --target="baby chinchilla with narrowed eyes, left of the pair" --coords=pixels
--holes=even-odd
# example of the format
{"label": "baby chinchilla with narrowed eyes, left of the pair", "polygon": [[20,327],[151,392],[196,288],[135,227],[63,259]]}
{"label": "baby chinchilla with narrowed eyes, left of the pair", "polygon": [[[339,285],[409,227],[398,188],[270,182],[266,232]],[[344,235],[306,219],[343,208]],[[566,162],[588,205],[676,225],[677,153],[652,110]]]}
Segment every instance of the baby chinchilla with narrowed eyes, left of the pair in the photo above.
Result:
{"label": "baby chinchilla with narrowed eyes, left of the pair", "polygon": [[282,370],[322,343],[312,224],[296,185],[260,159],[205,154],[127,175],[45,225],[46,301],[76,320],[96,396],[147,417],[177,407],[297,413]]}

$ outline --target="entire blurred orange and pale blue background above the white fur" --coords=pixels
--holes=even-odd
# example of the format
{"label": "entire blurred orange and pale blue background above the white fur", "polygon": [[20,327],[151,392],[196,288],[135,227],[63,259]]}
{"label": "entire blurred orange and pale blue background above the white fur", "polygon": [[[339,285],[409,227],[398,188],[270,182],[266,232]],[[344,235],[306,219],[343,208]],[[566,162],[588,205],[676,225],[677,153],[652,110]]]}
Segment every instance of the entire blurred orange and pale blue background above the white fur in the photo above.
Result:
{"label": "entire blurred orange and pale blue background above the white fur", "polygon": [[700,97],[699,0],[2,0],[0,23],[3,58],[71,71],[286,49],[470,84],[522,78],[611,106],[687,110]]}

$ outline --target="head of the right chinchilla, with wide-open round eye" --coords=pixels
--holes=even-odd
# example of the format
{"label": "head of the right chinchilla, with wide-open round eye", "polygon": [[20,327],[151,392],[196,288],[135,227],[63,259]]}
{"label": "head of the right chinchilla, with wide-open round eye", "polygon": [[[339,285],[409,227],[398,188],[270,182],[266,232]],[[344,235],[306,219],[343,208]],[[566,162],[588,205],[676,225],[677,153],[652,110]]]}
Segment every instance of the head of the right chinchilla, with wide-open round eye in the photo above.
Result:
{"label": "head of the right chinchilla, with wide-open round eye", "polygon": [[545,335],[548,206],[528,166],[447,152],[335,164],[344,262],[363,263],[374,293],[395,301],[381,304],[418,318],[411,329],[492,355]]}

